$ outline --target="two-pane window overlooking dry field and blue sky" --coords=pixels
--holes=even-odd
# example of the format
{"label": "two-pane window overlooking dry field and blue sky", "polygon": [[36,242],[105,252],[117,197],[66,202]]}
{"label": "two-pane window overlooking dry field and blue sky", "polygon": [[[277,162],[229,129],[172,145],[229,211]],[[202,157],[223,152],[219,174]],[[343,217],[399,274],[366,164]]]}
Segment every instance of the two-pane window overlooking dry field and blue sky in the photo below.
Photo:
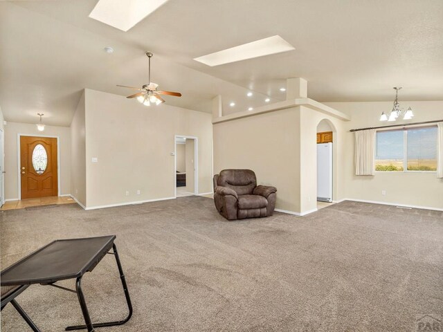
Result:
{"label": "two-pane window overlooking dry field and blue sky", "polygon": [[377,131],[375,170],[437,171],[437,127]]}

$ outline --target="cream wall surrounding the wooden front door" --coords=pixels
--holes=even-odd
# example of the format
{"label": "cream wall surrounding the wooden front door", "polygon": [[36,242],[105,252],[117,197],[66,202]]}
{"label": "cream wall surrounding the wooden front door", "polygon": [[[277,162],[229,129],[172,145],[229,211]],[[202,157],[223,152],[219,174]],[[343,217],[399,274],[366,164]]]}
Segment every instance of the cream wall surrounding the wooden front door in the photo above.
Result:
{"label": "cream wall surrounding the wooden front door", "polygon": [[71,130],[69,127],[46,126],[38,131],[35,124],[8,122],[5,131],[5,198],[18,199],[18,160],[17,134],[28,136],[59,136],[60,144],[60,192],[71,194]]}

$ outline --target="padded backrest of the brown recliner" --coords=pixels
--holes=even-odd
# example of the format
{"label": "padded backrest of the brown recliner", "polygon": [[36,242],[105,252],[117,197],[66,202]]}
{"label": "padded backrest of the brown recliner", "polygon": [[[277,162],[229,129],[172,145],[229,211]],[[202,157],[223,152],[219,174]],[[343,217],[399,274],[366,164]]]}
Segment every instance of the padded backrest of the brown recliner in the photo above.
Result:
{"label": "padded backrest of the brown recliner", "polygon": [[257,187],[257,178],[251,169],[224,169],[217,184],[234,190],[237,195],[251,195]]}

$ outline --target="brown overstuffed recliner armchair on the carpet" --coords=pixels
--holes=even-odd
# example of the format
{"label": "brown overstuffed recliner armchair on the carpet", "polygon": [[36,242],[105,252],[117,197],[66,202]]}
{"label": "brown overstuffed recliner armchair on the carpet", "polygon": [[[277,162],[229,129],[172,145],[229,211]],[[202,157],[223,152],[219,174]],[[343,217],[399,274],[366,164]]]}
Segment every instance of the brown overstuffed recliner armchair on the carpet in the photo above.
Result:
{"label": "brown overstuffed recliner armchair on the carpet", "polygon": [[277,189],[257,186],[251,169],[224,169],[214,176],[214,203],[228,220],[272,216]]}

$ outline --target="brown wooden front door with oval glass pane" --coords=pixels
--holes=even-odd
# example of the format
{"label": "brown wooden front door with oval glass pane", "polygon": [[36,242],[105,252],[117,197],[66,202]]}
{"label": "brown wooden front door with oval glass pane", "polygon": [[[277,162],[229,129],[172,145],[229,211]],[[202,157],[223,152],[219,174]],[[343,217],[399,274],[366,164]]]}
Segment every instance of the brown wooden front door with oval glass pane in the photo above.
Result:
{"label": "brown wooden front door with oval glass pane", "polygon": [[57,138],[20,136],[21,199],[57,196]]}

